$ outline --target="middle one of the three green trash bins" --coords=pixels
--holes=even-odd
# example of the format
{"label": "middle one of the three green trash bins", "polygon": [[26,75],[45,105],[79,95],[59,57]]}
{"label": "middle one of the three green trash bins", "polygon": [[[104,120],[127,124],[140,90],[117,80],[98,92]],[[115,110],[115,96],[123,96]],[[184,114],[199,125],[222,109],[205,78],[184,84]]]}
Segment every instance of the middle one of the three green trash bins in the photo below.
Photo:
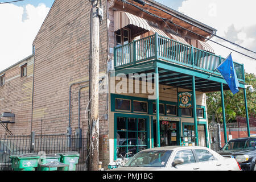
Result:
{"label": "middle one of the three green trash bins", "polygon": [[39,156],[38,160],[38,171],[57,171],[57,167],[44,167],[41,164],[47,164],[49,166],[50,163],[60,162],[60,155],[56,154],[48,154]]}

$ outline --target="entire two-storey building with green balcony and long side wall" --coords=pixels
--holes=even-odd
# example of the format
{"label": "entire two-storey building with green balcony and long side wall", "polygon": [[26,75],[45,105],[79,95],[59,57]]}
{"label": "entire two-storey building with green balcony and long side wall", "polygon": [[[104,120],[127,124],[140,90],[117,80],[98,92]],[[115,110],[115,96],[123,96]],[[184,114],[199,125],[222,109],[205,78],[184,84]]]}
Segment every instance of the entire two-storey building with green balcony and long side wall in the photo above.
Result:
{"label": "entire two-storey building with green balcony and long side wall", "polygon": [[[145,148],[209,147],[205,93],[228,89],[220,73],[212,73],[225,59],[205,39],[217,30],[152,0],[144,6],[100,2],[103,166]],[[14,134],[88,132],[90,14],[89,1],[56,0],[33,42],[34,54],[1,72],[6,96],[0,111],[15,114],[9,125]],[[23,62],[26,80],[18,77]],[[243,65],[235,68],[245,88]]]}

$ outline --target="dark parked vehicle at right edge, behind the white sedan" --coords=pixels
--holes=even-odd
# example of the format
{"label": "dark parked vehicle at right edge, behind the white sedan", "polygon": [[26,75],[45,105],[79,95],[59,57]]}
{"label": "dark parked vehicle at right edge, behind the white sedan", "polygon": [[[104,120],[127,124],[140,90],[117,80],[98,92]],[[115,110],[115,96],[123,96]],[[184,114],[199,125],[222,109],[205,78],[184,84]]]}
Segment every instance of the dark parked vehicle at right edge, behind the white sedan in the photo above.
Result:
{"label": "dark parked vehicle at right edge, behind the white sedan", "polygon": [[256,171],[256,138],[236,138],[229,140],[225,146],[218,151],[225,157],[234,157],[243,171]]}

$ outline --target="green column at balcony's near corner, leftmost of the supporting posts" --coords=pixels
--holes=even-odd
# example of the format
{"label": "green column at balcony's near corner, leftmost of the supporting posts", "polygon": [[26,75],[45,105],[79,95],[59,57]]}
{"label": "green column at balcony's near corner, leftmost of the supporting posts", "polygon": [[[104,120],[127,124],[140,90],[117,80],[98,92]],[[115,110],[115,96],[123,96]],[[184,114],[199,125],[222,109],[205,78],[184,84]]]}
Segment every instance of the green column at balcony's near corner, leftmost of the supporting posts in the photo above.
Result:
{"label": "green column at balcony's near corner, leftmost of the supporting posts", "polygon": [[159,76],[158,67],[155,67],[155,107],[156,107],[156,147],[160,147],[160,122],[159,122]]}

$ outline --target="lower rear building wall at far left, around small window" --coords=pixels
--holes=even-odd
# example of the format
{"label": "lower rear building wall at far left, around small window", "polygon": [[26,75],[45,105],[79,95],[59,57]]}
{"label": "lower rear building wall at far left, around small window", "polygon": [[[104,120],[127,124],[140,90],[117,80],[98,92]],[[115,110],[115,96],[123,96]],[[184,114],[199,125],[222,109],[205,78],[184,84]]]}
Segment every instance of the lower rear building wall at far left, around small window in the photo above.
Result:
{"label": "lower rear building wall at far left, around small window", "polygon": [[[20,65],[26,63],[27,76],[21,77]],[[31,55],[0,74],[5,74],[5,85],[0,86],[0,113],[15,114],[15,123],[8,124],[8,129],[15,135],[27,135],[31,132],[33,67],[34,56]],[[2,120],[9,121],[10,118],[2,118]],[[5,129],[0,126],[0,135],[5,134]]]}

